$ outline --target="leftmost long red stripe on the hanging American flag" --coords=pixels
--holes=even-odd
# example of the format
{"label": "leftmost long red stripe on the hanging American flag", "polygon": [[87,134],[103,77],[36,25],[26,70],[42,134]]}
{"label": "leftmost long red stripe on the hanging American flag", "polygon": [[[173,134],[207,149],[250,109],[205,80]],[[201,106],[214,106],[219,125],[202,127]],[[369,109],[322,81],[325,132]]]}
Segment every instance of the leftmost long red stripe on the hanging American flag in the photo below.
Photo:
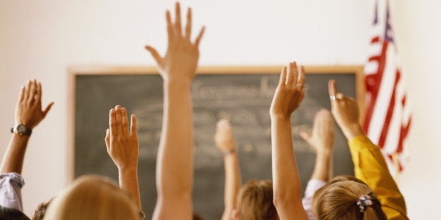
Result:
{"label": "leftmost long red stripe on the hanging American flag", "polygon": [[[384,68],[386,67],[386,53],[388,51],[388,43],[383,42],[383,49],[379,59],[379,69],[376,74],[366,76],[366,91],[371,95],[371,102],[367,106],[366,117],[364,118],[363,130],[367,132],[371,123],[372,114],[374,114],[374,107],[376,98],[379,95],[381,80],[383,79]],[[376,142],[376,140],[373,140]]]}

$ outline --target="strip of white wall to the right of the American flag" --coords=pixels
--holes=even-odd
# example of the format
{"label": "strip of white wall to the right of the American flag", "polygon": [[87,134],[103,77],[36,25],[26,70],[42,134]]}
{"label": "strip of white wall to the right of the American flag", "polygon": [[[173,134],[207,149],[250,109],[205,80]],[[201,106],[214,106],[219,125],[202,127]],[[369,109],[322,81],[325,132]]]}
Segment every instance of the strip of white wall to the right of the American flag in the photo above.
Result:
{"label": "strip of white wall to the right of the American flag", "polygon": [[400,178],[412,219],[440,219],[441,1],[393,1],[402,67],[412,100],[411,160]]}

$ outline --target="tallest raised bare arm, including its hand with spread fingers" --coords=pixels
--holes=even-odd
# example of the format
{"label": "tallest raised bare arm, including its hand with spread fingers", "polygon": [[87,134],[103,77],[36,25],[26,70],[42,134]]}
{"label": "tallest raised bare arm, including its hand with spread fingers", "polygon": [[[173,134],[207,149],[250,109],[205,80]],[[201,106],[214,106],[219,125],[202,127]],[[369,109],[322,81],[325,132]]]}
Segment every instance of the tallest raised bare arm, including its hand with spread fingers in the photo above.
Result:
{"label": "tallest raised bare arm, including its hand with spread fingers", "polygon": [[192,13],[187,11],[187,25],[182,33],[180,5],[176,3],[176,18],[171,22],[166,12],[169,46],[161,57],[150,46],[164,79],[164,114],[157,156],[157,204],[154,219],[192,219],[193,185],[193,112],[190,94],[199,60],[199,41],[204,29],[192,42]]}

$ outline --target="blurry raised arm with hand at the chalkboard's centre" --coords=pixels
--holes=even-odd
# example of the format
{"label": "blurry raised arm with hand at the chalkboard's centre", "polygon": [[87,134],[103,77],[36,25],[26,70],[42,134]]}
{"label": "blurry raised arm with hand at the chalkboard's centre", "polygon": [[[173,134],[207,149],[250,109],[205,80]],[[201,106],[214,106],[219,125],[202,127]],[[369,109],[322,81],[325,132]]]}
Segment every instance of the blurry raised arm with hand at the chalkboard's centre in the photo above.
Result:
{"label": "blurry raised arm with hand at the chalkboard's centre", "polygon": [[221,120],[218,122],[214,142],[223,153],[223,163],[225,166],[225,208],[222,220],[228,220],[231,219],[232,210],[236,207],[237,192],[242,184],[239,157],[237,156],[235,140],[232,137],[231,125],[228,121]]}

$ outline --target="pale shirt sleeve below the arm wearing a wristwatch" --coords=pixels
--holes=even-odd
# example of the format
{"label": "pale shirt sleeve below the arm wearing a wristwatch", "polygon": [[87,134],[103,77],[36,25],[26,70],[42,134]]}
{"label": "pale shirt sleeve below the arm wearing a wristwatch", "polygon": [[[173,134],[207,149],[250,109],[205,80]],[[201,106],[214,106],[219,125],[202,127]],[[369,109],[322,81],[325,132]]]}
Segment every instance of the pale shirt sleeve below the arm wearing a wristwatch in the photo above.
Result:
{"label": "pale shirt sleeve below the arm wearing a wristwatch", "polygon": [[15,172],[0,174],[0,205],[23,211],[22,187],[23,177]]}

